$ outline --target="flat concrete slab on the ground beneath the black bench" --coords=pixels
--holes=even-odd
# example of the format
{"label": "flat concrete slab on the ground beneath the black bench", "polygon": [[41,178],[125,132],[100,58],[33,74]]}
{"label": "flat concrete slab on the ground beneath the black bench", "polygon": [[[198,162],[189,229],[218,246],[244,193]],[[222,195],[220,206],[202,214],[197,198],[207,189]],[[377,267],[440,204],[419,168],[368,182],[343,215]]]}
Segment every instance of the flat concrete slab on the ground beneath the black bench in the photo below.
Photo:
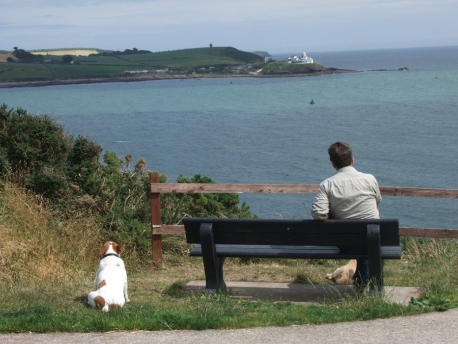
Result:
{"label": "flat concrete slab on the ground beneath the black bench", "polygon": [[[235,300],[294,302],[304,305],[322,304],[326,300],[354,295],[351,285],[300,284],[271,282],[227,282],[231,297]],[[184,295],[202,292],[205,281],[191,281],[183,289]],[[389,302],[407,305],[410,299],[418,298],[421,288],[385,286],[384,298]]]}

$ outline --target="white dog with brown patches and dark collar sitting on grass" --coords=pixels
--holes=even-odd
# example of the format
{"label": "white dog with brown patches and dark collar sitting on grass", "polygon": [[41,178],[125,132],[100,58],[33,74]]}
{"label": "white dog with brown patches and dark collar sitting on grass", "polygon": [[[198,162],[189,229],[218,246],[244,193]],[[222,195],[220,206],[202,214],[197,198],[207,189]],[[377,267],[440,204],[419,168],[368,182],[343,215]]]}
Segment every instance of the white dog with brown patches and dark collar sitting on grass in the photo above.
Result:
{"label": "white dog with brown patches and dark collar sitting on grass", "polygon": [[123,251],[122,245],[111,241],[100,249],[102,259],[97,270],[96,290],[88,295],[88,303],[92,307],[107,312],[110,306],[122,307],[129,302],[126,268],[119,257]]}

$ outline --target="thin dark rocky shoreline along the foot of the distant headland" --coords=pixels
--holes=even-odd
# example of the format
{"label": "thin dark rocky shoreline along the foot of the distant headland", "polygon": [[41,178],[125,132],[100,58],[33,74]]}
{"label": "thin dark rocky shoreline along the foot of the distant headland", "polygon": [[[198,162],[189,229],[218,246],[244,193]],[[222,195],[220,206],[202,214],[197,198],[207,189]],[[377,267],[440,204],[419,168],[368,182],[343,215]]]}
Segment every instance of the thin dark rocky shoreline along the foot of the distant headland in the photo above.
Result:
{"label": "thin dark rocky shoreline along the foot of the distant headland", "polygon": [[19,87],[43,87],[59,85],[84,85],[84,84],[101,84],[101,83],[130,83],[139,81],[158,81],[158,80],[192,80],[201,78],[214,77],[300,77],[315,76],[326,74],[357,73],[359,70],[332,69],[319,71],[315,73],[295,73],[295,74],[166,74],[166,75],[135,75],[135,76],[115,76],[115,77],[88,77],[80,79],[53,79],[45,81],[18,81],[18,82],[0,82],[2,88],[19,88]]}

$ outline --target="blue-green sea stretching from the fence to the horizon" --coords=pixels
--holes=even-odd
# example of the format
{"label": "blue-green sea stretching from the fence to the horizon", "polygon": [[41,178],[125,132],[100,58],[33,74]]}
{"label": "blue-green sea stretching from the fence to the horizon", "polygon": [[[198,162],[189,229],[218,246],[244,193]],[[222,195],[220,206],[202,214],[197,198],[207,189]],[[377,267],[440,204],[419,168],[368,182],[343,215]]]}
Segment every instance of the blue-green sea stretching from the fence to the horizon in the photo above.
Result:
{"label": "blue-green sea stretching from the fence to the horizon", "polygon": [[[170,182],[318,184],[335,173],[327,148],[344,141],[380,186],[458,189],[458,46],[307,55],[357,72],[11,88],[0,103],[145,158]],[[261,218],[297,219],[311,218],[313,197],[240,195]],[[458,228],[457,199],[384,196],[380,213],[406,227]]]}

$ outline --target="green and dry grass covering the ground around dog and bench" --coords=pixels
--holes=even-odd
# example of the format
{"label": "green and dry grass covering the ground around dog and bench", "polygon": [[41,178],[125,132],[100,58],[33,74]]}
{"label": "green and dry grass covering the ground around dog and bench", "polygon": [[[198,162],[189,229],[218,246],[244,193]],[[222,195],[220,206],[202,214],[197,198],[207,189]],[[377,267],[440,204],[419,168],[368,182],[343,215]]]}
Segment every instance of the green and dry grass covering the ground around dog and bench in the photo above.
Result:
{"label": "green and dry grass covering the ground around dog and bench", "polygon": [[[46,204],[9,184],[0,186],[0,332],[203,330],[359,321],[458,306],[456,240],[404,238],[402,260],[387,261],[385,283],[423,287],[408,306],[380,297],[348,296],[321,305],[238,301],[230,295],[184,296],[183,285],[204,279],[183,237],[164,237],[164,260],[125,252],[131,302],[108,313],[87,306],[103,242],[97,220],[79,214],[56,220]],[[228,281],[328,283],[341,261],[228,259]]]}

